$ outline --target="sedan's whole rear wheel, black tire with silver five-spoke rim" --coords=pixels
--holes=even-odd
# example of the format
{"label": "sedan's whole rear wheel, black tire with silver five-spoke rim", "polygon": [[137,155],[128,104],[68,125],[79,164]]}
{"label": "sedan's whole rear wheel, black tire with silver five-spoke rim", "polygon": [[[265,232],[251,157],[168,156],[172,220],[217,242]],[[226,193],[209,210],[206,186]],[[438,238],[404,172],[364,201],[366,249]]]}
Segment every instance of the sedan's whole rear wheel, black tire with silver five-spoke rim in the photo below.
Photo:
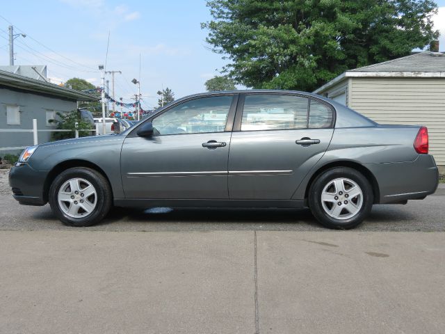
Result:
{"label": "sedan's whole rear wheel, black tire with silver five-spoke rim", "polygon": [[371,184],[353,168],[325,170],[309,189],[312,214],[327,228],[355,228],[368,216],[372,206]]}

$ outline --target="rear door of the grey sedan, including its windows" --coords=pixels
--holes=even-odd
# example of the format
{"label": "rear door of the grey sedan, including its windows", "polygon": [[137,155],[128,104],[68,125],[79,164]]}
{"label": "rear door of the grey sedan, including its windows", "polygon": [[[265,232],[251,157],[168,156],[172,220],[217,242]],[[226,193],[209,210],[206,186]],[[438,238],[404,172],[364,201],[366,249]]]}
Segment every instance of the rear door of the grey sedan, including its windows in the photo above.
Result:
{"label": "rear door of the grey sedan, including its windows", "polygon": [[305,95],[240,96],[229,152],[229,198],[289,200],[321,159],[334,110]]}

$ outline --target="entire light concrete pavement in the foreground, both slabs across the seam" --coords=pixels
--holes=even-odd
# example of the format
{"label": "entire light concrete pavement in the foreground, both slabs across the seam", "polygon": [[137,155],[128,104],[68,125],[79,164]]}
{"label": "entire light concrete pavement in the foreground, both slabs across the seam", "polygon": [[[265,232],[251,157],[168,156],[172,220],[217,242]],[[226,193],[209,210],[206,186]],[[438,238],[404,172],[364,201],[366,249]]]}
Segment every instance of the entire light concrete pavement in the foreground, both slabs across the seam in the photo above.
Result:
{"label": "entire light concrete pavement in the foreground, both slabs across the seam", "polygon": [[0,231],[0,333],[444,333],[444,237]]}

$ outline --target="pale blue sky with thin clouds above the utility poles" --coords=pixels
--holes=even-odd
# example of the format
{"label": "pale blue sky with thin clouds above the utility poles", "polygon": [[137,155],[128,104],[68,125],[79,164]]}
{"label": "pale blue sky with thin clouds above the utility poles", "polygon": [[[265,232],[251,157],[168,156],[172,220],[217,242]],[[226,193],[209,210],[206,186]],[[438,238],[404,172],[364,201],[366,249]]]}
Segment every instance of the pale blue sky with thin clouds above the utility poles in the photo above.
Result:
{"label": "pale blue sky with thin clouds above the utility poles", "polygon": [[[12,22],[16,65],[47,65],[51,81],[70,77],[99,85],[97,65],[116,74],[116,97],[129,102],[139,76],[143,108],[157,104],[156,91],[168,86],[176,97],[204,91],[204,81],[226,63],[205,42],[200,23],[211,19],[204,0],[16,0],[3,3],[0,15]],[[437,29],[445,35],[445,0],[437,1]],[[8,65],[8,25],[0,17],[0,64]],[[19,31],[21,29],[21,31]],[[41,44],[39,44],[41,43]],[[49,49],[47,49],[47,47]],[[51,49],[51,50],[50,50]],[[441,51],[445,40],[441,38]],[[92,71],[92,72],[90,72]],[[111,80],[111,77],[108,79]]]}

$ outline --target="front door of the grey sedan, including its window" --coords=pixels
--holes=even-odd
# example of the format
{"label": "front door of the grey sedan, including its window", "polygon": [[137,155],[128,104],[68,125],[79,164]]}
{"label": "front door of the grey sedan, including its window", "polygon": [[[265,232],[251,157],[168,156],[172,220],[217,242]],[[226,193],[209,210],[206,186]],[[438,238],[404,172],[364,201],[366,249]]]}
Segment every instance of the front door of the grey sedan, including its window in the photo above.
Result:
{"label": "front door of the grey sedan, including its window", "polygon": [[121,154],[125,197],[227,199],[232,100],[221,95],[182,102],[154,116],[151,138],[128,136]]}

